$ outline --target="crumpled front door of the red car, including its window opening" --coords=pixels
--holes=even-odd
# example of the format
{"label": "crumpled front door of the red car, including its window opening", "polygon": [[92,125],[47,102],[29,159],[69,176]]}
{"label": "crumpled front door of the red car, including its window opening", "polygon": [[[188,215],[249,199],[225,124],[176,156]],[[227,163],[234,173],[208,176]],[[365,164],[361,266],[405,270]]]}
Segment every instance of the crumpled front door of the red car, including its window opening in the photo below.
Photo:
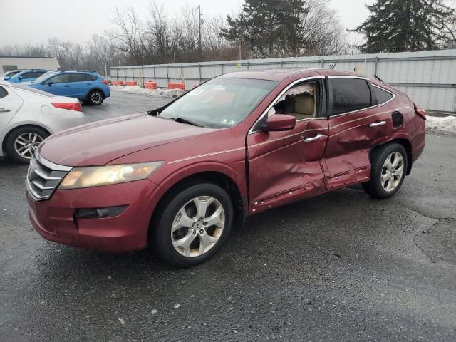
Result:
{"label": "crumpled front door of the red car, including its window opening", "polygon": [[[328,137],[322,117],[323,80],[306,81],[279,95],[267,116],[296,116],[286,132],[259,130],[247,136],[250,211],[261,212],[325,191],[320,160]],[[266,115],[263,120],[265,120]]]}

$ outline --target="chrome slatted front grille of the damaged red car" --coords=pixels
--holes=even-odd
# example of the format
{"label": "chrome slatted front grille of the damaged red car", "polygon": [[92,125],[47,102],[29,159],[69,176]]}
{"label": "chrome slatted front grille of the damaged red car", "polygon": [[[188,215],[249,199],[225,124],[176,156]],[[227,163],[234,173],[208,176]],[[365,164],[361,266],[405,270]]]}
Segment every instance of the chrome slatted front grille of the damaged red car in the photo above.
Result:
{"label": "chrome slatted front grille of the damaged red car", "polygon": [[63,178],[72,169],[49,162],[36,152],[30,160],[26,177],[26,189],[33,199],[50,199]]}

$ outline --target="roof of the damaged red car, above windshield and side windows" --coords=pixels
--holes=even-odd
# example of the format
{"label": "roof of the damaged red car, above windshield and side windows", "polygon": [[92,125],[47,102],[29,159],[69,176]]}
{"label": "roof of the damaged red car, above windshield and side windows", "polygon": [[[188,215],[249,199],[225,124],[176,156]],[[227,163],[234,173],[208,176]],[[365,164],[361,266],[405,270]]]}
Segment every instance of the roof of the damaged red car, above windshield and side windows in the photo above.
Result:
{"label": "roof of the damaged red car, above windshield and side windows", "polygon": [[356,73],[347,71],[337,71],[332,69],[321,68],[273,68],[258,69],[249,71],[236,71],[234,73],[225,73],[220,78],[252,78],[269,81],[283,81],[290,76],[311,77],[311,76],[359,76]]}

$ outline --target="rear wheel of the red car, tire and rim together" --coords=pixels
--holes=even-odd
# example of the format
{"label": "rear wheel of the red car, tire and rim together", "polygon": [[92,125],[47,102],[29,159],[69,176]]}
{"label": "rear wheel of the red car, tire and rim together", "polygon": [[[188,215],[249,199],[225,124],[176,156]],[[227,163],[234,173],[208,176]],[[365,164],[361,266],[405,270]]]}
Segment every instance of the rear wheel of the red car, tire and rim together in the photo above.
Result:
{"label": "rear wheel of the red car, tire and rim together", "polygon": [[390,143],[371,153],[371,180],[363,189],[372,197],[392,197],[400,189],[407,172],[407,152],[402,145]]}

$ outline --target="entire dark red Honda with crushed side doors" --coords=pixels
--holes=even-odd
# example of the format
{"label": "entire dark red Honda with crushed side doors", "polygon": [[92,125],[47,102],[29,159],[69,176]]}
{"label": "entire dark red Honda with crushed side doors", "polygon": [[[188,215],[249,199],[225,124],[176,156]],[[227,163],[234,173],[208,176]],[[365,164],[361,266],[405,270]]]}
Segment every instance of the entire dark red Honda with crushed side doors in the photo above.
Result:
{"label": "entire dark red Honda with crushed side doors", "polygon": [[26,179],[44,238],[198,264],[257,212],[361,183],[395,194],[425,146],[425,112],[354,73],[246,71],[147,113],[46,139]]}

